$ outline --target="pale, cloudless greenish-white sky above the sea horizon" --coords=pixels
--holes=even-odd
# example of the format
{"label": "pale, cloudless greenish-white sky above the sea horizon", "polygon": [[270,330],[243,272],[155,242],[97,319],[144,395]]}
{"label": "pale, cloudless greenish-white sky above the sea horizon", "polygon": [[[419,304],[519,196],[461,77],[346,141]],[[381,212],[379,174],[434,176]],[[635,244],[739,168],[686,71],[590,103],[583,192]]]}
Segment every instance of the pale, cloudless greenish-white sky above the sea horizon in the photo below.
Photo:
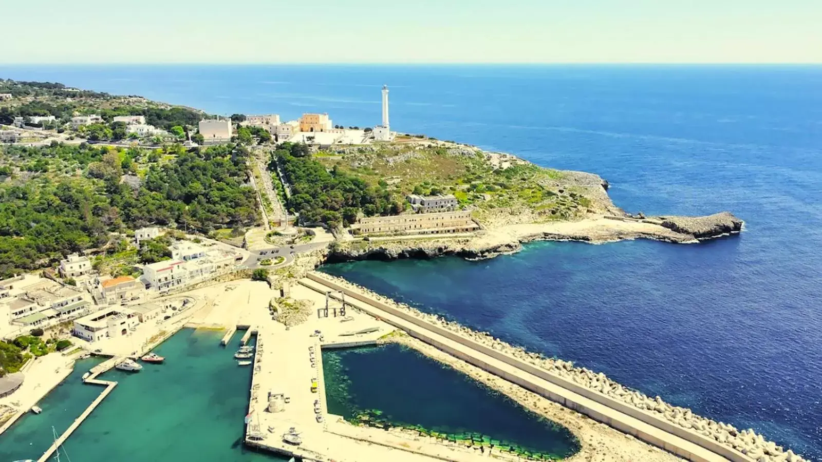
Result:
{"label": "pale, cloudless greenish-white sky above the sea horizon", "polygon": [[5,3],[7,64],[822,62],[822,0]]}

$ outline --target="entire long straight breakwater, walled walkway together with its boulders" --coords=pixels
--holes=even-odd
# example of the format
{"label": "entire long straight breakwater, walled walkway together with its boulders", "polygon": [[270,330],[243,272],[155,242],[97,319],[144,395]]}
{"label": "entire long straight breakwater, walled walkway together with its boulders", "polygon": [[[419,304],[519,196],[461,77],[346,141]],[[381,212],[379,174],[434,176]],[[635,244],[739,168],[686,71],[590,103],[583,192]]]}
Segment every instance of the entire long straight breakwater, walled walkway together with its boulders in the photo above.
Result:
{"label": "entire long straight breakwater, walled walkway together with its boulders", "polygon": [[[537,353],[526,352],[520,347],[514,347],[485,333],[478,333],[458,323],[395,303],[389,298],[381,297],[339,278],[316,272],[309,273],[307,277],[309,280],[328,285],[333,289],[344,290],[350,297],[372,305],[372,311],[373,307],[379,307],[384,312],[398,316],[405,321],[404,330],[408,330],[409,327],[413,328],[413,326],[426,326],[451,342],[463,346],[469,345],[474,351],[486,354],[488,358],[494,358],[502,363],[501,365],[486,363],[480,367],[489,371],[497,368],[494,373],[501,377],[537,391],[540,395],[586,413],[600,422],[608,423],[644,441],[671,450],[677,455],[691,460],[713,460],[706,452],[726,460],[745,462],[750,460],[757,462],[802,460],[791,450],[784,450],[774,442],[766,441],[764,437],[750,429],[738,430],[726,423],[713,422],[708,418],[695,415],[690,409],[667,404],[659,397],[650,398],[639,391],[630,390],[608,379],[602,373],[574,367],[572,363],[559,359],[544,358]],[[414,336],[419,334],[419,332],[409,333]],[[423,340],[427,343],[433,342],[432,344],[435,344],[437,348],[452,350],[449,353],[458,356],[461,354],[459,345],[445,344],[441,340],[432,338]],[[475,361],[472,362],[472,358],[463,359],[478,365]],[[536,387],[537,384],[533,380],[524,383],[515,375],[506,377],[505,366],[512,365],[532,376],[528,377],[529,379],[536,377],[544,381],[542,385],[547,385],[547,387]],[[602,413],[603,410],[614,410],[619,414],[605,415]],[[638,424],[644,424],[644,426]],[[652,432],[646,430],[652,430]],[[656,432],[653,432],[654,430]],[[661,435],[658,432],[660,430],[665,434]],[[680,447],[673,446],[671,441],[675,441]],[[686,453],[686,448],[694,449],[695,447],[700,450]]]}

